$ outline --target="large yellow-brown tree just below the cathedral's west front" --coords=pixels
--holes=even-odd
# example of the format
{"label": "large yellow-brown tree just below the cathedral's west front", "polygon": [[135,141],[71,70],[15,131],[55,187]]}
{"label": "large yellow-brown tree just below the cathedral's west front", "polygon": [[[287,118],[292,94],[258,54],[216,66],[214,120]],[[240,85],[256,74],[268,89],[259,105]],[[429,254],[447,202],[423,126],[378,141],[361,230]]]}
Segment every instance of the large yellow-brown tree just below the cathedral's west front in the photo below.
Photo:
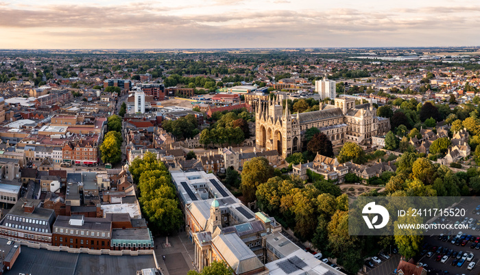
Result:
{"label": "large yellow-brown tree just below the cathedral's west front", "polygon": [[266,183],[274,174],[274,168],[269,165],[265,157],[254,157],[246,161],[241,172],[240,189],[247,202],[255,199],[256,187]]}

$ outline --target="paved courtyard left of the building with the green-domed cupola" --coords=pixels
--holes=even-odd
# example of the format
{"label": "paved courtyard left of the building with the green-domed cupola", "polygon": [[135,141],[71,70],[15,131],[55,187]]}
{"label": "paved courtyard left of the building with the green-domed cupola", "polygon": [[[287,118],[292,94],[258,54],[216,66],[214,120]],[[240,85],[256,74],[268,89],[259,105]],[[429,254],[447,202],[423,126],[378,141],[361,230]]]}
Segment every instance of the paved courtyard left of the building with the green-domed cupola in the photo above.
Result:
{"label": "paved courtyard left of the building with the green-domed cupola", "polygon": [[[158,265],[165,275],[185,275],[193,267],[194,245],[184,232],[168,238],[170,247],[165,247],[165,237],[155,237],[155,254]],[[165,261],[163,260],[165,256]]]}

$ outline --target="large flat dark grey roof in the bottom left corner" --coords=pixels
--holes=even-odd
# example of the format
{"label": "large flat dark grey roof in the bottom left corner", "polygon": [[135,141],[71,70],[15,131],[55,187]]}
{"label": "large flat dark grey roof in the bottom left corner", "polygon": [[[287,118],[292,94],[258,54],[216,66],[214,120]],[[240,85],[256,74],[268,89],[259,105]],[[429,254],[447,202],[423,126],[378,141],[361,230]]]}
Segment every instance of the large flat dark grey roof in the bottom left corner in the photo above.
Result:
{"label": "large flat dark grey roof in the bottom left corner", "polygon": [[56,252],[21,247],[9,274],[80,275],[80,274],[136,274],[137,270],[156,267],[153,255],[110,256],[86,253]]}

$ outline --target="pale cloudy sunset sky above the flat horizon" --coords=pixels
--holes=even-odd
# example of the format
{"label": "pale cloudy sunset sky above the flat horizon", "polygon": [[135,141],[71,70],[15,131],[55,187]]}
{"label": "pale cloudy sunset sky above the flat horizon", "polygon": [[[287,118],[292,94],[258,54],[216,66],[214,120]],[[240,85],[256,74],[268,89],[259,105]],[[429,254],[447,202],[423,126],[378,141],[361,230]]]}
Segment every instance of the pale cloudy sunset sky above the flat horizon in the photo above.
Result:
{"label": "pale cloudy sunset sky above the flat horizon", "polygon": [[0,0],[0,49],[478,46],[478,0]]}

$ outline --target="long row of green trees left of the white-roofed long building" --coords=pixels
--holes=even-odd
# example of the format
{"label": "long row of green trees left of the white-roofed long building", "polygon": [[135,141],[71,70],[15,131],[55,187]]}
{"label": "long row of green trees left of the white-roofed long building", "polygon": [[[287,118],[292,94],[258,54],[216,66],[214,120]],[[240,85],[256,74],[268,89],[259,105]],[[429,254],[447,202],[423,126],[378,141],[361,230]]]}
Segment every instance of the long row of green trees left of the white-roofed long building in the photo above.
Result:
{"label": "long row of green trees left of the white-roofed long building", "polygon": [[149,228],[155,233],[167,234],[176,231],[183,223],[175,186],[165,165],[150,152],[143,159],[130,163],[130,173],[137,183],[139,202]]}

